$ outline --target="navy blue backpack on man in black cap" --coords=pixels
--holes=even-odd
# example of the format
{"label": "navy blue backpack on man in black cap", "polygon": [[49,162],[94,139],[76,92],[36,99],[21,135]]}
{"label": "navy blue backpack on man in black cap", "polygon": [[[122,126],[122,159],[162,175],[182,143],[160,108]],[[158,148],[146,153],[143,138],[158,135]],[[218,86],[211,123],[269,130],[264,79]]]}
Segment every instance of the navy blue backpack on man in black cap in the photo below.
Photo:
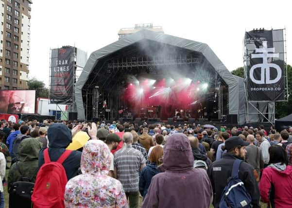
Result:
{"label": "navy blue backpack on man in black cap", "polygon": [[251,196],[238,178],[241,162],[242,160],[236,159],[233,163],[231,178],[223,189],[219,208],[251,208]]}

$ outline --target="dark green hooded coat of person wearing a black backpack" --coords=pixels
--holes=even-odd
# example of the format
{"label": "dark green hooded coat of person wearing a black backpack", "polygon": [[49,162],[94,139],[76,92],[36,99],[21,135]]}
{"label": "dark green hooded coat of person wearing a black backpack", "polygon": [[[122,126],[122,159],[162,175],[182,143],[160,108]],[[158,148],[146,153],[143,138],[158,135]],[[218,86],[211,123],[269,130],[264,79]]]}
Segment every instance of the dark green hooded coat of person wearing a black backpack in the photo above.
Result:
{"label": "dark green hooded coat of person wearing a black backpack", "polygon": [[[42,148],[41,143],[36,138],[26,138],[18,146],[17,163],[10,167],[8,174],[8,189],[11,184],[20,181],[22,177],[32,179],[35,182],[36,174],[38,171],[38,152]],[[17,170],[17,166],[20,170]]]}

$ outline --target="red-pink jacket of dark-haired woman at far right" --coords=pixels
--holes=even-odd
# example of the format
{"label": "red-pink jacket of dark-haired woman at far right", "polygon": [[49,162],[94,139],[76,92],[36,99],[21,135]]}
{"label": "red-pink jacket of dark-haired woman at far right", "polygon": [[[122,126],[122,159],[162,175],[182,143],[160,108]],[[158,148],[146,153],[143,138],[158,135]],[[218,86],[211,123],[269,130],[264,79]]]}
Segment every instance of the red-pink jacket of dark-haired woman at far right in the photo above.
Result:
{"label": "red-pink jacket of dark-haired woman at far right", "polygon": [[259,183],[259,193],[265,203],[271,201],[276,208],[292,208],[292,166],[287,166],[284,171],[265,168]]}

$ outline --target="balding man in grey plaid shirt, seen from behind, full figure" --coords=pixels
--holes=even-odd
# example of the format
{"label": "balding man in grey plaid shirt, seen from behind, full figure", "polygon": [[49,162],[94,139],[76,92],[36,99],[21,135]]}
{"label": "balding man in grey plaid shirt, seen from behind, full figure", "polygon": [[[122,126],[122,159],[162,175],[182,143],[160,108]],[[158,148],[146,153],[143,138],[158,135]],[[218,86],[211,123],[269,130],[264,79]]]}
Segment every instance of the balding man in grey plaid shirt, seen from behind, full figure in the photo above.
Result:
{"label": "balding man in grey plaid shirt, seen from behind, full figure", "polygon": [[122,184],[129,199],[130,208],[138,208],[139,171],[146,166],[146,160],[140,151],[132,148],[133,135],[131,132],[124,133],[123,142],[126,143],[126,147],[115,152],[114,155],[114,176]]}

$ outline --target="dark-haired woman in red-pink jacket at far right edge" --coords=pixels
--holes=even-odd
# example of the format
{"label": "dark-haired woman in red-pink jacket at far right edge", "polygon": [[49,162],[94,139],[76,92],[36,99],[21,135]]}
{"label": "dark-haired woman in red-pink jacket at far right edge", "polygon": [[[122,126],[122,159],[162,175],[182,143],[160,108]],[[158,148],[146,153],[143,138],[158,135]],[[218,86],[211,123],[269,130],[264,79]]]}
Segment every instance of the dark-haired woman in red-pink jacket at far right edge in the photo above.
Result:
{"label": "dark-haired woman in red-pink jacket at far right edge", "polygon": [[260,197],[272,208],[292,207],[292,166],[288,166],[286,151],[278,145],[269,148],[269,166],[262,172],[259,182]]}

